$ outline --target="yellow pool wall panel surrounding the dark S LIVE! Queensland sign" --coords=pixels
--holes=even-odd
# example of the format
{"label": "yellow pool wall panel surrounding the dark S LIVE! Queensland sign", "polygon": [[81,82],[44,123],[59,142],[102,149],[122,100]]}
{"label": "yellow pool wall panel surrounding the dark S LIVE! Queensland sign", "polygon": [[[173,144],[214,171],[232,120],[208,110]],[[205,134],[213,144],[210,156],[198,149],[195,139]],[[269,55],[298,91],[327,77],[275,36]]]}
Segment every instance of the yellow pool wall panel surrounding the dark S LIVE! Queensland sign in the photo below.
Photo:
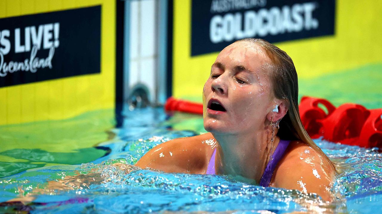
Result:
{"label": "yellow pool wall panel surrounding the dark S LIVE! Queensland sign", "polygon": [[[0,125],[59,120],[89,110],[114,107],[115,0],[3,0],[0,18],[96,5],[101,6],[100,73],[0,88]],[[65,32],[61,29],[60,34]]]}

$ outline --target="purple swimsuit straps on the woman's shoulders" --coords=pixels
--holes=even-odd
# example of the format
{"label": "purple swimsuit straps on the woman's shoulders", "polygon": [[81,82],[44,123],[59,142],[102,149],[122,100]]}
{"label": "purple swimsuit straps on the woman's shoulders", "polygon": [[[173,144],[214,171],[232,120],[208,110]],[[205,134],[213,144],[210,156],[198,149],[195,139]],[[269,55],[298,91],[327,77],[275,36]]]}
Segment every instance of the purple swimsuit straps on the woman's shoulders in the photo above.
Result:
{"label": "purple swimsuit straps on the woman's shoulders", "polygon": [[[286,147],[288,147],[290,141],[284,141],[280,140],[278,143],[275,152],[272,155],[272,159],[268,162],[267,167],[265,167],[264,173],[260,180],[260,185],[263,187],[268,187],[270,184],[270,179],[272,179],[273,171],[275,170],[278,161],[281,160],[281,158],[284,155],[284,152],[286,150]],[[212,153],[212,157],[210,159],[210,162],[208,163],[207,172],[206,174],[215,174],[215,155],[216,155],[216,149],[214,150],[214,153]]]}

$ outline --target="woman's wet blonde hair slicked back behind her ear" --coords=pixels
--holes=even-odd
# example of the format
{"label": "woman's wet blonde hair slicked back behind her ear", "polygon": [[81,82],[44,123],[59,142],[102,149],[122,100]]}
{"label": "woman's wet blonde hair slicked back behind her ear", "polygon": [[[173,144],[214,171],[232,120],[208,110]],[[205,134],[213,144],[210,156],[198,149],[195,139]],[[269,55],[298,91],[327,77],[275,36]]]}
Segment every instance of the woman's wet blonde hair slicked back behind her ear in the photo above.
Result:
{"label": "woman's wet blonde hair slicked back behind her ear", "polygon": [[277,99],[287,100],[286,105],[289,105],[288,112],[280,121],[277,136],[285,140],[302,141],[321,155],[325,155],[312,141],[301,123],[298,109],[298,78],[291,57],[285,51],[263,39],[245,38],[236,42],[250,42],[259,45],[273,63],[271,81],[274,95]]}

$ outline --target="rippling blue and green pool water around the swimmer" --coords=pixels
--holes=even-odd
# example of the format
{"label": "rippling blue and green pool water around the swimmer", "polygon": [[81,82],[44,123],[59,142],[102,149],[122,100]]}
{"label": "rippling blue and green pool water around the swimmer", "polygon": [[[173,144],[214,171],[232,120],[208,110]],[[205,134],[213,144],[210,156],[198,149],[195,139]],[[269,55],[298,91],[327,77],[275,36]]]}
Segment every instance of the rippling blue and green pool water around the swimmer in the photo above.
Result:
{"label": "rippling blue and green pool water around the swimmer", "polygon": [[[336,200],[327,203],[314,194],[249,185],[229,176],[162,173],[133,166],[126,174],[112,164],[134,164],[155,145],[204,133],[201,116],[175,113],[169,117],[162,108],[139,109],[125,112],[123,127],[116,129],[111,114],[103,114],[103,119],[89,115],[93,114],[56,126],[42,122],[50,136],[62,133],[58,124],[68,130],[78,131],[78,124],[91,129],[66,136],[71,140],[61,149],[55,145],[62,142],[54,141],[45,143],[47,149],[35,148],[34,153],[29,152],[31,145],[24,150],[0,150],[0,213],[375,213],[382,204],[382,155],[376,148],[315,140],[344,169],[333,184]],[[24,165],[17,168],[16,163]],[[17,197],[32,198],[32,202],[1,203]]]}

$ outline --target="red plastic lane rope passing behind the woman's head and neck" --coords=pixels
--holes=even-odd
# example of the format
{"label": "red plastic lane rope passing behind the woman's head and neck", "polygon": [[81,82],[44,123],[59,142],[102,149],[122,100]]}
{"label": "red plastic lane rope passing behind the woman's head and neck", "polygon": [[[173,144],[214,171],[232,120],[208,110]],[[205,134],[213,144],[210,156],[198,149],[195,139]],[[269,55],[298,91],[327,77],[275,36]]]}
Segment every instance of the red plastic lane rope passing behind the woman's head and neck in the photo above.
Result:
{"label": "red plastic lane rope passing behind the woman's head and neck", "polygon": [[[165,110],[202,115],[203,105],[170,97]],[[382,109],[368,110],[359,104],[342,104],[336,108],[325,99],[302,97],[299,112],[312,139],[322,136],[332,142],[382,149]]]}

